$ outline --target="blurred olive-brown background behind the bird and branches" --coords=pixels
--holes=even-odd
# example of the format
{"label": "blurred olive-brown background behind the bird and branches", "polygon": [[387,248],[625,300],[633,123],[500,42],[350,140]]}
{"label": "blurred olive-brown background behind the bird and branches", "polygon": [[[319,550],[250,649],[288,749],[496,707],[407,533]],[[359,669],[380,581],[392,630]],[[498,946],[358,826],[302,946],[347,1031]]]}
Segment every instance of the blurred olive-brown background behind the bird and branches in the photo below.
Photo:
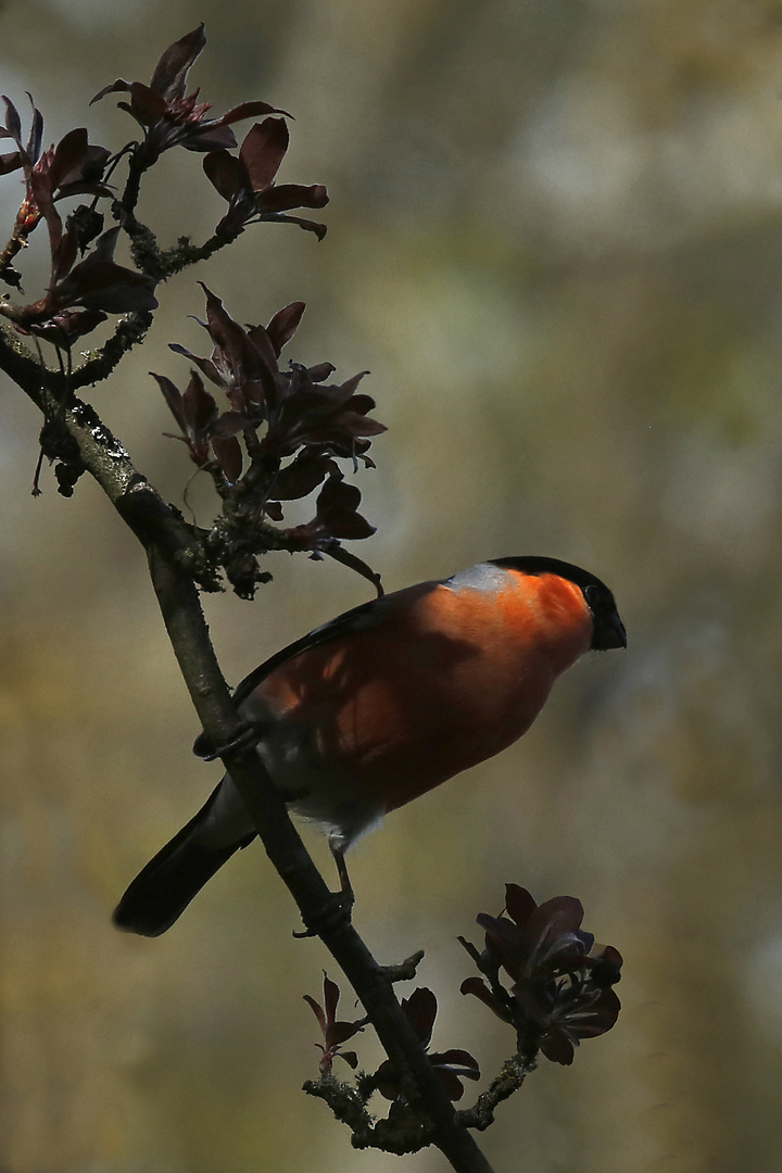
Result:
{"label": "blurred olive-brown background behind the bird and branches", "polygon": [[[295,115],[280,178],[328,185],[328,236],[252,228],[171,280],[97,409],[182,506],[192,466],[148,372],[183,386],[168,343],[204,352],[197,279],[240,321],[304,299],[286,354],[368,367],[389,426],[355,479],[378,534],[354,545],[387,589],[553,555],[608,582],[630,633],[560,682],[519,745],[356,848],[359,930],[386,962],[426,948],[434,1045],[489,1077],[514,1039],[458,994],[456,936],[478,940],[506,881],[578,896],[624,954],[617,1028],[499,1108],[482,1141],[497,1173],[778,1169],[782,2],[6,0],[2,93],[22,110],[34,95],[47,144],[87,121],[116,148],[135,123],[90,97],[149,81],[200,20],[192,84],[217,113],[263,99]],[[19,192],[2,181],[6,233]],[[198,156],[170,151],[140,216],[169,244],[205,239],[223,210]],[[340,977],[292,938],[263,852],[161,940],[111,929],[219,771],[190,755],[140,549],[87,479],[66,501],[47,472],[30,496],[39,420],[1,394],[1,1164],[444,1168],[353,1152],[299,1091],[319,1056],[301,995],[324,967]],[[198,482],[188,496],[209,521]],[[335,563],[268,569],[252,604],[205,599],[232,683],[370,594]],[[372,1038],[358,1049],[372,1070]]]}

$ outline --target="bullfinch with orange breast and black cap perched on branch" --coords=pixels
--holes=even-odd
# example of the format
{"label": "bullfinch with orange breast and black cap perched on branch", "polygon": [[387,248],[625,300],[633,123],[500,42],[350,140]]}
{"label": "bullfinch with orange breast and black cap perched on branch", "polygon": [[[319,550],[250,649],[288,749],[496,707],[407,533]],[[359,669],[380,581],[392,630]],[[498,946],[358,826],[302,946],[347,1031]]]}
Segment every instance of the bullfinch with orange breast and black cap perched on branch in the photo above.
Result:
{"label": "bullfinch with orange breast and black cap perched on branch", "polygon": [[[290,644],[233,703],[290,808],[345,853],[383,816],[531,726],[590,650],[626,647],[611,590],[569,562],[519,556],[363,603]],[[205,734],[195,752],[209,757]],[[257,830],[226,774],[130,883],[114,924],[156,937]]]}

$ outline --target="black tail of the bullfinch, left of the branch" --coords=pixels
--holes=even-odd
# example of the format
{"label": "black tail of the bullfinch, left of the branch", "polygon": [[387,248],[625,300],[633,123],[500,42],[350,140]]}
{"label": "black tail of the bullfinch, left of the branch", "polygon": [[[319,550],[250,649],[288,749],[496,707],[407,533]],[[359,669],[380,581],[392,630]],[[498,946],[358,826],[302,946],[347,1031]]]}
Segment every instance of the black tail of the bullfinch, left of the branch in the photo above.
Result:
{"label": "black tail of the bullfinch, left of the branch", "polygon": [[211,847],[202,828],[213,799],[138,873],[114,910],[118,929],[159,937],[234,852],[256,838],[245,835],[227,847]]}

